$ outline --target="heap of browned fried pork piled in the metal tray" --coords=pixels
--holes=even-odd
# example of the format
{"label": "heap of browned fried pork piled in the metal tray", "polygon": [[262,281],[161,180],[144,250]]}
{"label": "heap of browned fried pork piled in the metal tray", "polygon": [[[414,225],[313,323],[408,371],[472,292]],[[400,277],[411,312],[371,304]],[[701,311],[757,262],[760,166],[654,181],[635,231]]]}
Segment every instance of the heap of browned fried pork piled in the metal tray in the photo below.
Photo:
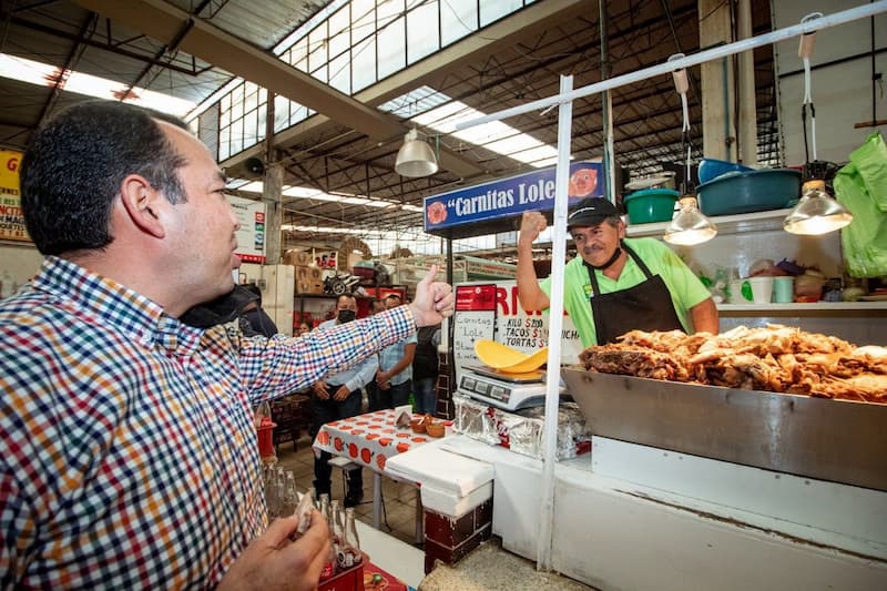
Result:
{"label": "heap of browned fried pork piled in the metal tray", "polygon": [[580,360],[589,371],[887,404],[887,348],[781,325],[720,335],[632,330]]}

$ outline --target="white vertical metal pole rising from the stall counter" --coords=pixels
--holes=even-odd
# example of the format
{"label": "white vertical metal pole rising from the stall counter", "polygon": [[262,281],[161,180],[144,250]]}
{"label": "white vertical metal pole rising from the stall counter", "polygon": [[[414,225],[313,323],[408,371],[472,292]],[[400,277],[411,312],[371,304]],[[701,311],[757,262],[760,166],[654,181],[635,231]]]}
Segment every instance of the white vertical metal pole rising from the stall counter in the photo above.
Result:
{"label": "white vertical metal pole rising from the stall counter", "polygon": [[[573,77],[561,77],[561,93],[573,88]],[[548,373],[546,377],[546,421],[542,463],[542,511],[539,516],[539,544],[536,568],[551,570],[551,542],[554,524],[554,462],[558,452],[558,409],[561,384],[561,332],[563,328],[563,264],[567,258],[567,188],[570,183],[570,142],[573,103],[558,110],[558,170],[554,173],[554,227],[551,237],[551,307],[548,319]]]}

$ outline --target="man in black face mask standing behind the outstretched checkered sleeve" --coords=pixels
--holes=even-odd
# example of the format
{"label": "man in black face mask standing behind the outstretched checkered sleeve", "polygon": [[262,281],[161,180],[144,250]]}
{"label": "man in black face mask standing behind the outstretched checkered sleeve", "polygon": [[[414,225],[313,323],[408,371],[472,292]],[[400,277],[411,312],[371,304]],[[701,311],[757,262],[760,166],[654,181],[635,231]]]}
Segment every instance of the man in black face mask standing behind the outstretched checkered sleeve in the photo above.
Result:
{"label": "man in black face mask standing behind the outstretched checkered sleeve", "polygon": [[[339,326],[353,322],[357,317],[357,298],[351,294],[343,294],[336,300],[336,318],[320,323],[318,330],[333,326]],[[370,355],[358,365],[324,376],[317,380],[312,389],[312,439],[317,436],[325,424],[347,419],[360,414],[364,394],[360,388],[365,387],[373,376],[379,361],[376,355]],[[323,493],[329,495],[329,477],[333,472],[328,461],[332,455],[322,451],[320,456],[314,458],[314,490],[317,498]],[[364,498],[364,472],[361,469],[351,470],[347,473],[347,489],[345,492],[345,507],[355,507]]]}

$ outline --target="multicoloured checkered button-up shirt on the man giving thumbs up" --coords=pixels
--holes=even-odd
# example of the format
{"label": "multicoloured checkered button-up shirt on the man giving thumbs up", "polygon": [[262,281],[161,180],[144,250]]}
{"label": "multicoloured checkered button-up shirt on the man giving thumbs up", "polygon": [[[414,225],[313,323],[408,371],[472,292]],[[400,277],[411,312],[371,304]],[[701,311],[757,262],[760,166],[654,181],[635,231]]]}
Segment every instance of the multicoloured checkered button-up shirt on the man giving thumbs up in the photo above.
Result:
{"label": "multicoloured checkered button-up shirt on the man giving thumbs up", "polygon": [[212,587],[267,524],[251,407],[412,330],[195,329],[47,257],[0,304],[0,588]]}

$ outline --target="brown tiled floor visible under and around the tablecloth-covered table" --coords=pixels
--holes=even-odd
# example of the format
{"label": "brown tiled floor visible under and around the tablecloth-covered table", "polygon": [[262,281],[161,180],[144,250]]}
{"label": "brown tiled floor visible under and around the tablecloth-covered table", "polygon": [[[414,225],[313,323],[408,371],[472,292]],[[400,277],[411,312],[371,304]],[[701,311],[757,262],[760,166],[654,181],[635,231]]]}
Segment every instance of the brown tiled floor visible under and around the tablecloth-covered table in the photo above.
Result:
{"label": "brown tiled floor visible under and around the tablecloth-covered table", "polygon": [[[277,450],[277,461],[285,470],[293,470],[296,478],[296,488],[304,492],[312,487],[314,481],[314,451],[312,440],[307,434],[302,435],[297,450],[293,450],[293,444],[285,441]],[[341,483],[341,470],[333,469],[332,493],[334,499],[343,500],[345,491]],[[388,478],[383,478],[383,499],[387,514],[387,526],[383,521],[381,530],[390,533],[399,540],[416,544],[416,496],[418,489],[404,482],[395,482]],[[357,519],[373,523],[373,471],[364,469],[364,502],[355,510]]]}

